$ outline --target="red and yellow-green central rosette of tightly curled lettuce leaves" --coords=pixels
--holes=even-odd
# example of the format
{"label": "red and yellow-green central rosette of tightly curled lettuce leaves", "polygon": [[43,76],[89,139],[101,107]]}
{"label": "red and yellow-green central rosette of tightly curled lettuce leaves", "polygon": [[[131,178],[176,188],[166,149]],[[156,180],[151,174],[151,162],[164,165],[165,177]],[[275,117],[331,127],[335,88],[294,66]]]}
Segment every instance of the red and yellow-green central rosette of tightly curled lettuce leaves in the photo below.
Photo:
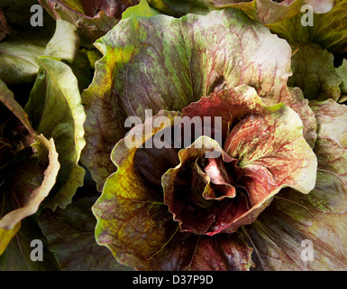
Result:
{"label": "red and yellow-green central rosette of tightly curled lettuce leaves", "polygon": [[[203,132],[213,123],[206,119],[222,122],[179,149],[173,135],[184,125],[177,117],[202,119]],[[142,137],[127,146],[134,135]],[[247,85],[147,118],[114,146],[112,160],[118,170],[94,206],[96,239],[119,262],[152,270],[249,269],[251,248],[238,228],[257,219],[281,188],[311,191],[317,166],[297,113],[266,106]]]}

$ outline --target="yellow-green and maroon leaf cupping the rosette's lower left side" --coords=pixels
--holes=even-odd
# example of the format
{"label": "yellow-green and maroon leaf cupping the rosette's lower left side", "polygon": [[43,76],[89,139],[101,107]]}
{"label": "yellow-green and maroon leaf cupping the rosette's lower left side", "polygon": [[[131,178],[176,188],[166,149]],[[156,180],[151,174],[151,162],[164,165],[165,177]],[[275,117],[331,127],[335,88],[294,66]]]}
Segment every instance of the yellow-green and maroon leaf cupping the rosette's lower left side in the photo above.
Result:
{"label": "yellow-green and maroon leaf cupping the rosette's lower left side", "polygon": [[153,128],[153,134],[168,129],[180,114],[160,111],[143,126],[133,128],[133,133],[143,133],[135,147],[125,145],[132,134],[114,147],[112,160],[118,171],[108,178],[93,206],[97,242],[110,248],[118,262],[139,270],[248,270],[251,249],[239,234],[212,239],[178,232],[160,186],[163,172],[178,162],[177,150],[136,148],[152,138],[145,134],[145,126],[163,116],[170,123]]}

